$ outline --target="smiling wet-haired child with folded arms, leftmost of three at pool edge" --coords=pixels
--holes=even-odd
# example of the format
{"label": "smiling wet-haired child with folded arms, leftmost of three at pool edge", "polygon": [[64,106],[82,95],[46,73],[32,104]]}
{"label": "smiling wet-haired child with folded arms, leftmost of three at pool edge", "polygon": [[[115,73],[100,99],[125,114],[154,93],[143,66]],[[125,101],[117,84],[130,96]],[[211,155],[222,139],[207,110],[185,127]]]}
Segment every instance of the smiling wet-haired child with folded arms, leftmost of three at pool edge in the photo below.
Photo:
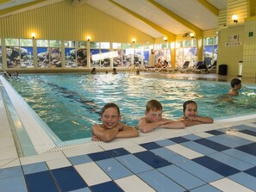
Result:
{"label": "smiling wet-haired child with folded arms, leftmost of three at pool edge", "polygon": [[109,142],[115,138],[132,138],[139,136],[137,129],[120,122],[120,109],[113,102],[109,102],[103,107],[101,119],[103,124],[96,124],[91,127],[92,140],[94,141],[102,140]]}

